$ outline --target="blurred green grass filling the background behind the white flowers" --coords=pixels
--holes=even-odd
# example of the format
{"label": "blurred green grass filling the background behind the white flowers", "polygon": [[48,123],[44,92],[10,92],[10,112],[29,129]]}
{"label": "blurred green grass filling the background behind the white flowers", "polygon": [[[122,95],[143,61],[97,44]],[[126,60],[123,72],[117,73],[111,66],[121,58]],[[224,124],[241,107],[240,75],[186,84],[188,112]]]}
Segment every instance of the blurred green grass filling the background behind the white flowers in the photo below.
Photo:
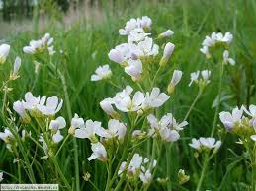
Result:
{"label": "blurred green grass filling the background behind the white flowers", "polygon": [[[223,93],[232,96],[221,104],[220,110],[229,109],[235,105],[255,103],[254,87],[256,73],[256,1],[255,0],[177,0],[161,3],[149,1],[117,1],[116,7],[104,4],[104,18],[94,23],[77,22],[70,29],[61,25],[56,27],[53,19],[46,28],[54,37],[56,50],[62,49],[64,54],[54,56],[52,62],[57,63],[66,78],[72,114],[78,113],[83,118],[102,121],[106,126],[107,116],[99,107],[99,101],[108,96],[114,96],[118,91],[105,82],[90,82],[90,76],[97,66],[110,64],[114,81],[125,87],[130,82],[128,75],[115,63],[108,59],[108,52],[115,45],[126,41],[126,37],[118,35],[118,30],[124,27],[126,21],[132,17],[149,16],[152,21],[152,33],[157,35],[167,29],[175,32],[166,41],[176,45],[174,55],[166,68],[168,75],[160,75],[157,79],[161,90],[165,90],[174,69],[184,72],[183,79],[171,97],[171,101],[164,105],[162,113],[173,112],[178,120],[182,120],[190,104],[197,95],[195,86],[189,88],[190,73],[198,69],[210,69],[213,76],[211,84],[197,103],[189,117],[189,126],[184,131],[183,139],[175,143],[171,151],[166,148],[160,160],[160,167],[156,177],[165,177],[166,166],[171,170],[169,182],[177,189],[177,172],[180,168],[191,176],[188,183],[179,190],[194,190],[197,184],[200,167],[194,158],[192,149],[188,147],[192,137],[209,136],[213,124],[214,110],[212,103],[217,96],[218,67],[207,63],[204,55],[199,51],[201,43],[211,32],[232,32],[234,40],[230,54],[236,60],[234,67],[228,66],[224,73]],[[11,44],[8,63],[0,67],[0,82],[9,75],[8,68],[12,67],[11,60],[16,55],[22,57],[21,78],[10,86],[14,90],[8,95],[10,105],[24,96],[28,91],[34,95],[59,96],[64,98],[63,87],[56,71],[49,71],[46,65],[41,68],[37,76],[34,64],[29,55],[22,52],[22,47],[32,38],[38,38],[43,32],[35,34],[29,32],[10,32],[5,40]],[[7,72],[6,72],[7,71]],[[0,92],[1,97],[3,93]],[[0,102],[2,106],[2,101]],[[66,104],[61,109],[61,115],[68,118]],[[2,124],[2,120],[0,121]],[[3,129],[3,128],[2,128]],[[250,167],[243,156],[242,146],[230,134],[225,134],[222,127],[217,128],[215,137],[223,138],[223,145],[212,160],[203,188],[210,190],[247,190],[250,181]],[[81,190],[93,190],[88,182],[82,179],[84,172],[92,175],[92,181],[103,189],[106,181],[104,165],[95,160],[87,161],[91,154],[90,143],[78,140],[79,175]],[[5,149],[1,142],[0,169],[11,174],[17,174],[17,167],[13,164],[13,156]],[[146,153],[146,146],[141,153]],[[59,155],[61,168],[67,179],[74,184],[73,145],[69,140]],[[39,161],[41,162],[41,161]],[[38,177],[39,182],[51,180],[50,167],[43,164],[44,175]],[[45,177],[43,179],[42,177]],[[11,178],[10,182],[12,181]],[[26,182],[26,176],[23,177]],[[54,181],[54,180],[53,180]],[[153,183],[151,190],[165,190],[158,183]]]}

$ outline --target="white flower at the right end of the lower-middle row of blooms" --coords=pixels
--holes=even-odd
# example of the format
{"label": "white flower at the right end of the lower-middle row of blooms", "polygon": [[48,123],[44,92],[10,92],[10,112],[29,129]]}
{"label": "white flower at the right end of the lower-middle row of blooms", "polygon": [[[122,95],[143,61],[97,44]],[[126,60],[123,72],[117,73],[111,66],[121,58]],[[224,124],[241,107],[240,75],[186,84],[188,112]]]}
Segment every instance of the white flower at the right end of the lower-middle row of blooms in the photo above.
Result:
{"label": "white flower at the right end of the lower-middle row of blooms", "polygon": [[119,120],[110,119],[108,122],[108,129],[104,132],[104,138],[111,139],[117,137],[119,140],[123,140],[127,132],[127,127]]}

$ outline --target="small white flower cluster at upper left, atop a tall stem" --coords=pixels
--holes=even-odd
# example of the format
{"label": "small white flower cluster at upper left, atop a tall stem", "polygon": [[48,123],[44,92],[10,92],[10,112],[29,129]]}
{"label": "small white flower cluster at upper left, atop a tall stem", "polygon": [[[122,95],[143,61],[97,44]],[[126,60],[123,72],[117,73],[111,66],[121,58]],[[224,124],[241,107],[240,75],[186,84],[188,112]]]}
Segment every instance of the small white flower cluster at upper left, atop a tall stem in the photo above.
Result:
{"label": "small white flower cluster at upper left, atop a tall stem", "polygon": [[54,39],[49,33],[45,33],[41,39],[31,40],[29,46],[23,47],[23,51],[27,54],[42,53],[45,49],[48,50],[49,55],[55,53],[54,47],[52,45]]}

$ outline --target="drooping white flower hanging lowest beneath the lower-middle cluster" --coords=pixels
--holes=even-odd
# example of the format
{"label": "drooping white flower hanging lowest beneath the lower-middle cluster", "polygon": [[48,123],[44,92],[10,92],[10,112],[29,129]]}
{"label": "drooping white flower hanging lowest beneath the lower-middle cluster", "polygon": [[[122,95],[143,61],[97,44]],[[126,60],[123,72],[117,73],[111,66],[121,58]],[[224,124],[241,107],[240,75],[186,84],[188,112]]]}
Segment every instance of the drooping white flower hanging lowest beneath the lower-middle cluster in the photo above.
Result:
{"label": "drooping white flower hanging lowest beneath the lower-middle cluster", "polygon": [[105,147],[100,143],[91,143],[92,147],[92,155],[87,158],[89,161],[91,161],[92,159],[99,159],[101,161],[105,161],[107,159],[107,151],[105,149]]}

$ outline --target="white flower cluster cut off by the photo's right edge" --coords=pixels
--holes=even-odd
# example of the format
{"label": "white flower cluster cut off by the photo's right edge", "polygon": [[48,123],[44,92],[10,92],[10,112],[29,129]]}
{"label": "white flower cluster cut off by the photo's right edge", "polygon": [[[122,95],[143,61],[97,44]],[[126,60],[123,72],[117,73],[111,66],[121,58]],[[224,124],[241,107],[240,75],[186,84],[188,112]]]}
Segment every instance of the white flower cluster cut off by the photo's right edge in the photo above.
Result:
{"label": "white flower cluster cut off by the photo's right edge", "polygon": [[255,105],[250,105],[249,109],[242,106],[240,109],[235,107],[232,112],[222,111],[219,113],[219,118],[227,131],[237,134],[240,137],[250,136],[253,141],[256,140]]}

